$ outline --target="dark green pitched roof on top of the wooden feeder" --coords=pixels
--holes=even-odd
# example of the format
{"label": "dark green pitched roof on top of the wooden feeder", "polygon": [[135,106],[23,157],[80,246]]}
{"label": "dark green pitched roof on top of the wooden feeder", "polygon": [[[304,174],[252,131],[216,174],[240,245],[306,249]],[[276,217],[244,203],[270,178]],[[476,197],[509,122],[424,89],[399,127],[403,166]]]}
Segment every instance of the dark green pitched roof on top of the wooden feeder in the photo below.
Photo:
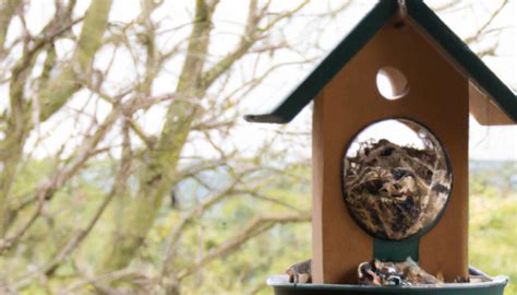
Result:
{"label": "dark green pitched roof on top of the wooden feeder", "polygon": [[[469,47],[421,0],[406,0],[407,16],[449,56],[478,88],[517,122],[517,97]],[[302,110],[339,70],[399,11],[399,1],[380,0],[361,22],[270,113],[247,115],[250,122],[287,123]]]}

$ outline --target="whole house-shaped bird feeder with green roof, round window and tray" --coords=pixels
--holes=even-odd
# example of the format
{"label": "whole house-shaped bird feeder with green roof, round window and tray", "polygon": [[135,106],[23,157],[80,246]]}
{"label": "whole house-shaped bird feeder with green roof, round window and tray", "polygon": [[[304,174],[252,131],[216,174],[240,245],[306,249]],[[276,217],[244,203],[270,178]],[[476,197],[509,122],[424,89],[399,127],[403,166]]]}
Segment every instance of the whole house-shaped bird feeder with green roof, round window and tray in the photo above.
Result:
{"label": "whole house-shaped bird feeder with green roof, round window and tray", "polygon": [[[504,276],[453,282],[480,274],[469,114],[515,125],[513,91],[422,1],[382,0],[273,111],[245,120],[287,123],[312,101],[312,283],[273,280],[276,294],[503,294]],[[444,284],[357,284],[361,262],[408,258]]]}

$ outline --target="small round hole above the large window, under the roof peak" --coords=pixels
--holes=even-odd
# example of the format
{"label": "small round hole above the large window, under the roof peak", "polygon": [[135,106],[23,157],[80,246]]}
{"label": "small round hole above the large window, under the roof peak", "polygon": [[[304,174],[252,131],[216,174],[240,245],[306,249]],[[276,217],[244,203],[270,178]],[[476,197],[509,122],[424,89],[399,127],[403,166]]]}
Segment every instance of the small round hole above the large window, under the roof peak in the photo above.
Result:
{"label": "small round hole above the large window, under the roof peak", "polygon": [[376,82],[378,93],[388,101],[402,98],[409,92],[408,79],[393,67],[381,68]]}

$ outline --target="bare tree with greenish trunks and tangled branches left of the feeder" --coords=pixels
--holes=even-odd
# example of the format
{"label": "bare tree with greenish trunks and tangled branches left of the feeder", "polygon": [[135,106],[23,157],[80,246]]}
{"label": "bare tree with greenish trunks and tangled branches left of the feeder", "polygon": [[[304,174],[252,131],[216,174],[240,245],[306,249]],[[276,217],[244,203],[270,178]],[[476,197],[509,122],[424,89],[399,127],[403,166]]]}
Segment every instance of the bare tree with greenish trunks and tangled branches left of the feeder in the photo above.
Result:
{"label": "bare tree with greenish trunks and tangled branches left of the feeder", "polygon": [[[235,106],[240,98],[275,69],[303,64],[309,59],[275,63],[265,70],[254,69],[252,75],[237,85],[229,83],[232,75],[229,69],[247,55],[258,62],[261,56],[288,49],[287,43],[275,44],[265,39],[308,2],[301,1],[289,10],[273,13],[270,1],[250,1],[240,40],[221,57],[213,56],[209,50],[216,27],[213,19],[219,1],[196,1],[190,23],[167,28],[153,19],[153,13],[163,5],[161,1],[142,1],[140,15],[131,22],[120,23],[109,21],[111,1],[94,0],[81,14],[76,13],[76,1],[56,0],[53,17],[36,33],[26,20],[33,3],[2,3],[0,54],[2,68],[8,70],[0,73],[0,81],[9,90],[10,99],[1,114],[0,252],[3,257],[13,257],[12,261],[21,266],[27,266],[33,250],[25,246],[31,248],[34,246],[32,240],[45,239],[39,235],[41,227],[49,233],[57,228],[67,233],[55,237],[52,250],[47,251],[45,258],[36,259],[37,262],[28,269],[20,273],[2,273],[5,276],[2,281],[7,282],[9,290],[15,292],[31,287],[41,278],[50,281],[57,276],[60,267],[73,264],[73,255],[109,211],[117,214],[117,221],[108,226],[111,232],[101,241],[106,248],[98,253],[89,270],[77,269],[73,276],[110,275],[124,270],[144,244],[167,197],[173,201],[172,205],[181,209],[172,209],[168,214],[181,216],[181,220],[166,235],[166,263],[157,267],[157,279],[141,276],[158,280],[168,293],[178,290],[181,280],[209,261],[237,250],[273,225],[309,221],[306,210],[293,211],[296,205],[262,196],[257,190],[265,179],[279,173],[265,165],[255,165],[261,157],[274,153],[274,149],[264,145],[257,149],[260,154],[241,157],[237,148],[223,146],[236,128],[240,114]],[[16,20],[20,24],[15,23]],[[16,26],[20,34],[9,38],[10,28]],[[159,46],[168,35],[173,38],[178,31],[189,27],[191,32],[187,38],[177,38],[172,46]],[[63,42],[74,44],[64,54],[60,48]],[[110,84],[112,68],[122,50],[129,54],[127,62],[133,63],[135,75],[130,83],[113,87]],[[98,59],[107,59],[107,62],[98,64]],[[163,74],[165,64],[175,59],[183,59],[177,85],[171,92],[157,94],[153,85]],[[165,107],[166,114],[161,127],[149,133],[141,126],[142,116],[156,106]],[[106,115],[99,115],[99,111]],[[17,189],[16,184],[23,182],[20,177],[23,178],[27,167],[38,161],[34,153],[53,135],[51,130],[41,130],[59,128],[63,123],[73,123],[70,128],[76,127],[77,130],[45,156],[44,161],[49,163],[45,175],[36,177],[28,188]],[[216,155],[182,160],[189,140],[202,140]],[[98,205],[91,214],[85,214],[88,217],[84,219],[83,225],[53,224],[59,212],[51,208],[61,201],[55,201],[59,198],[57,196],[71,193],[70,197],[76,198],[69,188],[80,181],[81,174],[97,161],[112,167],[115,176],[108,181],[111,188],[100,200],[96,199]],[[233,164],[240,167],[235,168]],[[213,187],[203,180],[203,174],[220,168],[226,169],[227,180],[230,179],[228,188]],[[175,186],[185,179],[196,181],[207,191],[197,204],[176,203],[180,197],[173,196]],[[200,259],[191,267],[173,267],[176,249],[192,223],[215,205],[237,196],[249,196],[285,210],[266,215],[257,213],[247,229],[236,232],[233,237],[206,256],[200,252]],[[50,225],[44,225],[46,223]],[[112,280],[122,279],[115,275]],[[95,280],[86,280],[91,283],[85,285],[105,292],[111,290],[107,279],[98,284],[94,283]],[[71,288],[85,285],[76,282]]]}

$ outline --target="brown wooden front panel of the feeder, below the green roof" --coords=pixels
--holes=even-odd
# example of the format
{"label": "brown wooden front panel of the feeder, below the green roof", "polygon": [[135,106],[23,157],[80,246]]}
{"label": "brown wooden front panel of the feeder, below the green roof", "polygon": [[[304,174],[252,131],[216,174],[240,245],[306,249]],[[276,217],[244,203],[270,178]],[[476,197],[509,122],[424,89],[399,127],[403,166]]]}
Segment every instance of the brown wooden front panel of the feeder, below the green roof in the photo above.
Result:
{"label": "brown wooden front panel of the feeder, below the green roof", "polygon": [[[380,68],[406,74],[407,96],[383,98]],[[420,241],[420,264],[446,281],[467,275],[468,81],[410,25],[386,25],[321,92],[313,121],[313,280],[356,283],[357,267],[372,259],[372,238],[353,223],[341,196],[341,161],[358,131],[393,117],[413,119],[443,143],[454,170],[442,221]]]}

